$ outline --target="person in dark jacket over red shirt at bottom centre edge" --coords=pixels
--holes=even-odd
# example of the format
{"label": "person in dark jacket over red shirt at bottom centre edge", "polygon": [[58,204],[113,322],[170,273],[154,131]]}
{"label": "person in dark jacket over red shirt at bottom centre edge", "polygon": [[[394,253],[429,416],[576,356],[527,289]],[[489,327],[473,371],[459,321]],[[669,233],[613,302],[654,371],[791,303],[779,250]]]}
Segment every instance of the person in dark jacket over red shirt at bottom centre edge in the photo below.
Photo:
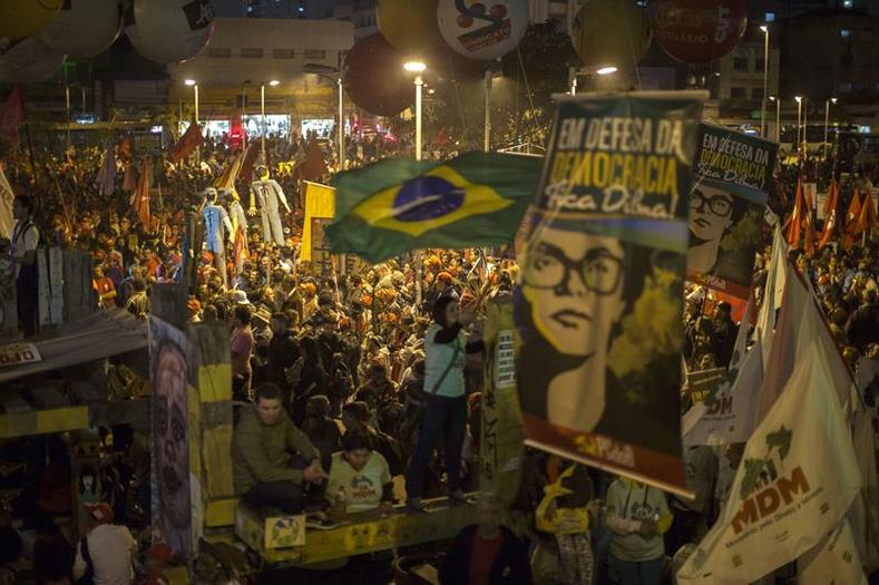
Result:
{"label": "person in dark jacket over red shirt at bottom centre edge", "polygon": [[465,526],[455,537],[440,566],[439,582],[442,585],[530,584],[528,550],[500,525],[500,500],[494,494],[482,494],[477,510],[479,524]]}

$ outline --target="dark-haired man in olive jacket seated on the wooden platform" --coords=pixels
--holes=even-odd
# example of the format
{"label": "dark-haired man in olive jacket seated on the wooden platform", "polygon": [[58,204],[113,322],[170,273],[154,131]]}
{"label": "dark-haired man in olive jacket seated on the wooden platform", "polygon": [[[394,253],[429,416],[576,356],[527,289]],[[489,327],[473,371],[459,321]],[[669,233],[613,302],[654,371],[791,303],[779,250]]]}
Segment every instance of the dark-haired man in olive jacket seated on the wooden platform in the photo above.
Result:
{"label": "dark-haired man in olive jacket seated on the wooden platform", "polygon": [[285,514],[302,511],[305,499],[320,501],[328,478],[321,456],[293,425],[281,406],[281,389],[272,382],[256,388],[232,438],[235,491],[255,506],[274,506]]}

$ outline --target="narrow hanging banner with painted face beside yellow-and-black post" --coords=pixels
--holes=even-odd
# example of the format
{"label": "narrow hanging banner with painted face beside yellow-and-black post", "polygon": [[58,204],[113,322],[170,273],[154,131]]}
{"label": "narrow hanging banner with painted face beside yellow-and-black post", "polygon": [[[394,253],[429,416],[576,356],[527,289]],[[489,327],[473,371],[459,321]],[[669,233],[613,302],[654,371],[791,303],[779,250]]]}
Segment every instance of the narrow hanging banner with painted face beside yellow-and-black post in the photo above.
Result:
{"label": "narrow hanging banner with painted face beside yellow-and-black post", "polygon": [[[153,543],[163,543],[182,558],[193,558],[193,504],[198,479],[191,461],[189,343],[186,334],[149,315],[150,484]],[[195,490],[195,494],[193,494]]]}

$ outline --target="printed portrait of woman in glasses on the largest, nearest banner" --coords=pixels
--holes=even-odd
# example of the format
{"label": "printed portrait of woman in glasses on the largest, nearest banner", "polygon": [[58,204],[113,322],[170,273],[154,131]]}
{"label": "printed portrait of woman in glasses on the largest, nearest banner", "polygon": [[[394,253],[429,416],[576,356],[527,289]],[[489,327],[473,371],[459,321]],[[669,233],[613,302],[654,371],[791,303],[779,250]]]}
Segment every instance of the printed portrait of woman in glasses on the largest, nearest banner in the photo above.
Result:
{"label": "printed portrait of woman in glasses on the largest, nearest banner", "polygon": [[514,296],[522,412],[575,432],[639,445],[650,438],[658,443],[651,448],[672,451],[676,439],[663,428],[664,407],[654,408],[647,392],[631,400],[633,388],[624,389],[608,364],[623,319],[653,274],[655,250],[585,225],[549,221],[527,246]]}

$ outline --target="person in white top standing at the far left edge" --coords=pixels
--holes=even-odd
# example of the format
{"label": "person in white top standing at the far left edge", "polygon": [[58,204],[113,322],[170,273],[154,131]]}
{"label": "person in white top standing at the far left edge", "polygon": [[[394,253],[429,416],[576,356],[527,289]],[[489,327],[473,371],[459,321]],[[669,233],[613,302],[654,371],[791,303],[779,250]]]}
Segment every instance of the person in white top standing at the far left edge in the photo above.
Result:
{"label": "person in white top standing at the far left edge", "polygon": [[40,232],[31,221],[33,201],[27,195],[17,195],[12,203],[12,263],[16,266],[16,298],[18,319],[26,338],[37,333],[37,245]]}

